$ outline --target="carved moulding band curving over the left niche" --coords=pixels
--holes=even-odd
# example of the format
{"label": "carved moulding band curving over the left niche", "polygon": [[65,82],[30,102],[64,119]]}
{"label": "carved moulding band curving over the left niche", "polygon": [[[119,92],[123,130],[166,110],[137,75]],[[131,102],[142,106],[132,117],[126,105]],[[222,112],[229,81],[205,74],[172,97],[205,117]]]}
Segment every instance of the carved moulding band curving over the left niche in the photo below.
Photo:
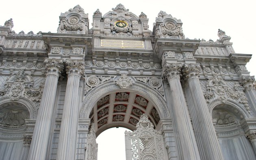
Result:
{"label": "carved moulding band curving over the left niche", "polygon": [[8,103],[8,102],[21,103],[22,105],[27,107],[29,114],[30,114],[30,119],[37,119],[37,109],[36,109],[35,105],[33,104],[33,102],[31,102],[27,98],[20,97],[18,100],[10,100],[9,97],[0,98],[0,106],[5,103]]}

